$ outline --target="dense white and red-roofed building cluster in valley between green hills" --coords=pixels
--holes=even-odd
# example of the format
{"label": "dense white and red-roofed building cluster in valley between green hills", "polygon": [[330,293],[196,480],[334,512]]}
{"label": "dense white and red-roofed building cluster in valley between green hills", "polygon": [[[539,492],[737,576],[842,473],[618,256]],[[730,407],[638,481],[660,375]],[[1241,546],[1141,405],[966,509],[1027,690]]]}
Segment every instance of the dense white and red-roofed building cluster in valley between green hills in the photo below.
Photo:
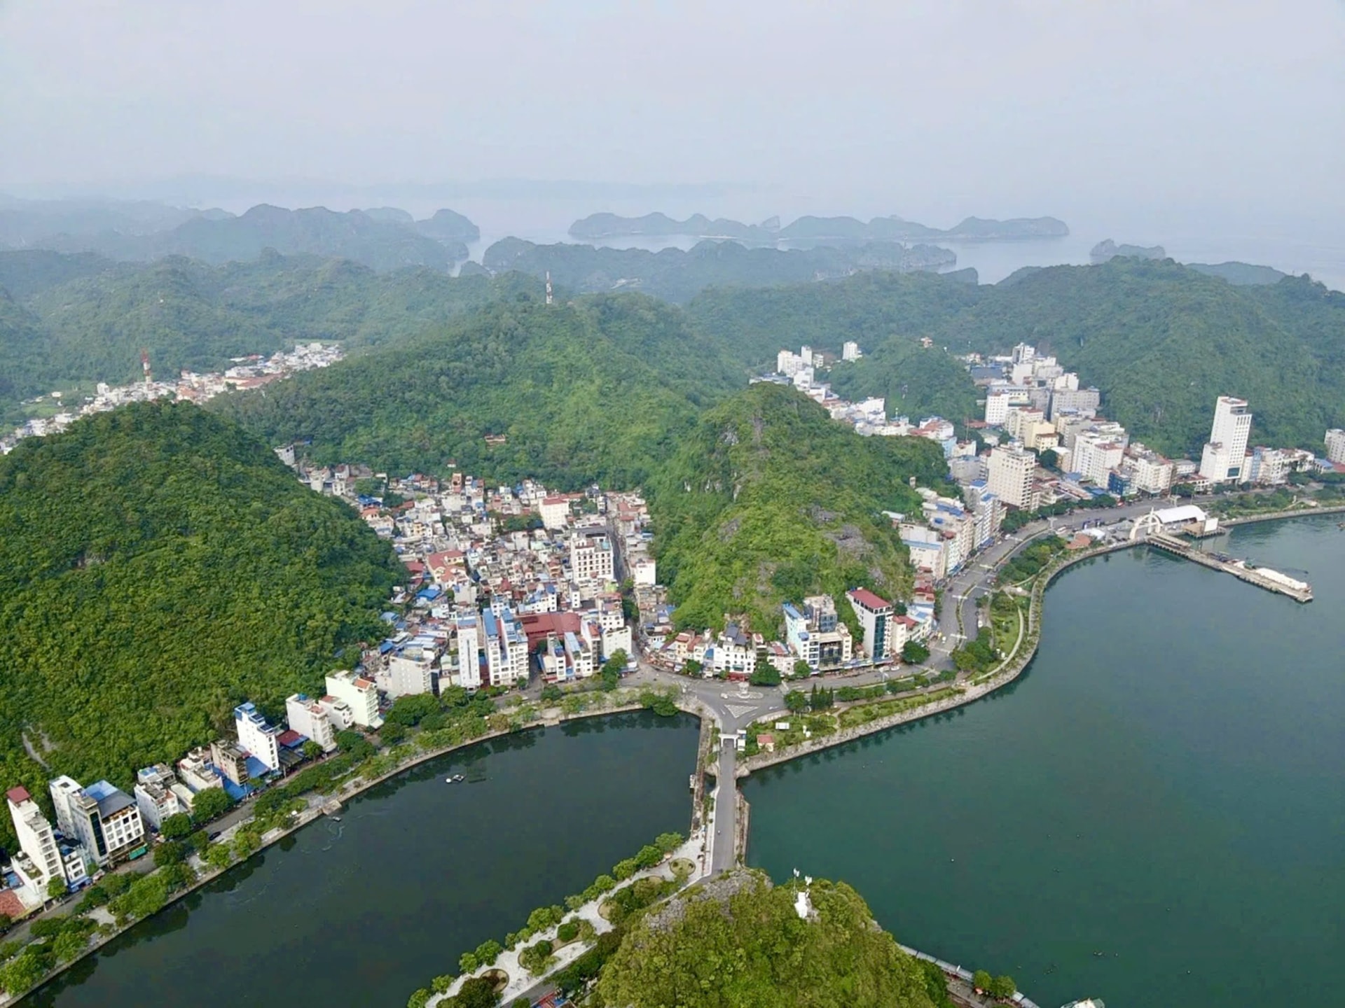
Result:
{"label": "dense white and red-roofed building cluster in valley between green hills", "polygon": [[[295,464],[288,450],[280,454]],[[526,684],[534,667],[549,683],[596,675],[619,652],[633,652],[623,581],[651,622],[671,618],[638,493],[296,468],[315,489],[359,507],[406,566],[406,585],[393,598],[405,614],[385,614],[387,638],[360,660],[362,675],[387,699],[448,685],[508,688]],[[356,492],[360,480],[409,500],[385,507]]]}

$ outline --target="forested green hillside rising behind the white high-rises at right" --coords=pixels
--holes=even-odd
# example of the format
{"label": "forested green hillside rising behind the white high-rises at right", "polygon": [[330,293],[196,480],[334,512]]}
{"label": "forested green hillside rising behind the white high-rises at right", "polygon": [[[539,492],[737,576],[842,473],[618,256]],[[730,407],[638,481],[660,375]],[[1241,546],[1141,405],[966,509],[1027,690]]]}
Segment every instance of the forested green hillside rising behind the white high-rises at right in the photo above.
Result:
{"label": "forested green hillside rising behind the white high-rises at right", "polygon": [[1034,343],[1167,453],[1200,457],[1219,395],[1251,403],[1254,444],[1319,449],[1345,421],[1345,370],[1330,366],[1345,347],[1345,296],[1302,280],[1233,286],[1171,261],[1054,266],[990,288],[935,339]]}

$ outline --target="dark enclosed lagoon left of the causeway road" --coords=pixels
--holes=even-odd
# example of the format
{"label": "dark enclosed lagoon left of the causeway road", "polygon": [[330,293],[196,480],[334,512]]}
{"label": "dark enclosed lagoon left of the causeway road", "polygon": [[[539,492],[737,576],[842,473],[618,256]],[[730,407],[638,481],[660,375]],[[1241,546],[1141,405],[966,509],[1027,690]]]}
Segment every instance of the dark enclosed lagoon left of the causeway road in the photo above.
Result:
{"label": "dark enclosed lagoon left of the causeway road", "polygon": [[[31,1005],[386,1005],[658,833],[697,722],[627,714],[480,743],[319,820],[109,943]],[[463,770],[475,784],[448,786]]]}

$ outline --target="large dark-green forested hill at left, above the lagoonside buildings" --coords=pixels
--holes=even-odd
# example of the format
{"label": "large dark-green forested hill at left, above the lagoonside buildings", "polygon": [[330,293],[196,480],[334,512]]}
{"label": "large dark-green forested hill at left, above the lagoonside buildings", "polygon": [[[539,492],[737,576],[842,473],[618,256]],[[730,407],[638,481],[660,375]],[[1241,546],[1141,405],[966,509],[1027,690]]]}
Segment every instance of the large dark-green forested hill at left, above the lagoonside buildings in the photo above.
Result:
{"label": "large dark-green forested hill at left, above the lagoonside buildings", "polygon": [[23,441],[0,458],[4,780],[128,785],[241,700],[312,692],[399,573],[350,507],[195,406]]}

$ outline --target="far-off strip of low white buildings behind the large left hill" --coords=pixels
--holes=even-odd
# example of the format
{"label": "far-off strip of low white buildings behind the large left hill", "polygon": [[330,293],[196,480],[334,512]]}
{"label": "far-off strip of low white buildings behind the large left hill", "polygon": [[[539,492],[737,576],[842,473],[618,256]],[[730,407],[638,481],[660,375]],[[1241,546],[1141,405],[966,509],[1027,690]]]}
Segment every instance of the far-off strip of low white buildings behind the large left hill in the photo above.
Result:
{"label": "far-off strip of low white buildings behind the large left hill", "polygon": [[[183,371],[176,382],[152,380],[147,360],[144,380],[125,386],[109,386],[100,382],[95,394],[87,396],[78,406],[63,402],[62,392],[51,392],[51,401],[61,410],[52,417],[30,419],[9,434],[0,437],[0,453],[11,452],[23,438],[56,434],[74,423],[79,417],[106,413],[126,403],[149,402],[152,399],[188,399],[199,403],[223,392],[258,388],[269,382],[289,378],[299,371],[327,367],[340,360],[342,356],[340,347],[335,344],[301,343],[296,344],[292,351],[272,353],[269,358],[264,358],[261,353],[234,358],[233,367],[222,372],[211,371],[210,374],[198,375],[194,371]],[[46,398],[38,396],[38,401]]]}

